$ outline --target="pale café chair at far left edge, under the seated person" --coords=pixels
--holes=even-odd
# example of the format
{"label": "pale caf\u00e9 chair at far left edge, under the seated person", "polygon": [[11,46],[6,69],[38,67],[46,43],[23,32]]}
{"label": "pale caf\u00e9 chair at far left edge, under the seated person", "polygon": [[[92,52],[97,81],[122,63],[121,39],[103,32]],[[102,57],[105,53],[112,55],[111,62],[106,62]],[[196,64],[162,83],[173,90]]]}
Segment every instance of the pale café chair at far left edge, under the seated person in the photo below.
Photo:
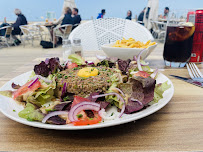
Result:
{"label": "pale caf\u00e9 chair at far left edge, under the seated person", "polygon": [[[2,42],[5,42],[5,44],[6,44],[8,47],[10,47],[9,42],[15,44],[14,39],[12,38],[12,35],[11,35],[12,29],[13,29],[13,28],[12,28],[11,26],[5,26],[5,27],[0,28],[0,30],[6,30],[6,31],[5,31],[5,35],[4,35],[4,36],[0,36],[0,40],[1,40]],[[2,42],[1,42],[1,43],[2,43]],[[16,45],[16,44],[15,44],[15,45]]]}

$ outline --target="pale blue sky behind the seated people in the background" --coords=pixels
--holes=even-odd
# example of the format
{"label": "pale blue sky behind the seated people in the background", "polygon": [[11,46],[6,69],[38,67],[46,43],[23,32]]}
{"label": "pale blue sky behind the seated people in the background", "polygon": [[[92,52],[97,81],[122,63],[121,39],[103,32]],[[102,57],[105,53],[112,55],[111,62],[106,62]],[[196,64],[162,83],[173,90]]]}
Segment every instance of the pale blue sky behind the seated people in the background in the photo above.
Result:
{"label": "pale blue sky behind the seated people in the background", "polygon": [[[60,17],[64,0],[0,0],[0,22],[6,17],[7,21],[15,21],[13,13],[15,8],[22,10],[29,22],[44,21],[47,12],[54,12],[55,17]],[[125,18],[128,10],[132,11],[132,18],[146,7],[148,0],[75,0],[79,14],[83,20],[96,19],[101,9],[106,9],[107,17]],[[178,16],[186,15],[188,9],[203,7],[203,0],[160,0],[159,14],[163,14],[165,7]]]}

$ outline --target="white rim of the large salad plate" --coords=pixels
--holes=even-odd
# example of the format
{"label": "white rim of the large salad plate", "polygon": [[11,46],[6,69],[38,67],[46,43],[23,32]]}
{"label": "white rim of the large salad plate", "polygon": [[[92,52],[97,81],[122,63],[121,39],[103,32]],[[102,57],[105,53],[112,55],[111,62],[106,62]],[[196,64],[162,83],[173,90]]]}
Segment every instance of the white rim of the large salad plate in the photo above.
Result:
{"label": "white rim of the large salad plate", "polygon": [[[18,75],[14,78],[12,78],[11,80],[7,81],[1,88],[0,90],[2,90],[2,88],[6,87],[8,83],[10,83],[11,81],[14,81],[14,79],[22,76],[22,75],[26,75],[26,74],[31,74],[32,71],[29,71],[29,72],[25,72],[21,75]],[[31,121],[27,121],[26,119],[23,119],[23,118],[17,118],[17,117],[14,117],[12,115],[9,115],[9,113],[6,113],[3,109],[0,108],[0,112],[5,115],[6,117],[10,118],[11,120],[13,121],[16,121],[18,123],[21,123],[21,124],[24,124],[24,125],[27,125],[27,126],[31,126],[31,127],[37,127],[37,128],[43,128],[43,129],[53,129],[53,130],[86,130],[86,129],[97,129],[97,128],[105,128],[105,127],[111,127],[111,126],[117,126],[117,125],[122,125],[122,124],[125,124],[125,123],[129,123],[129,122],[132,122],[132,121],[136,121],[136,120],[139,120],[141,118],[144,118],[144,117],[147,117],[157,111],[159,111],[160,109],[162,109],[163,107],[165,107],[172,99],[173,95],[174,95],[174,85],[172,83],[172,81],[167,77],[165,76],[164,74],[162,73],[159,73],[161,74],[163,77],[165,77],[167,80],[168,80],[168,83],[171,84],[171,96],[167,99],[167,101],[165,101],[163,104],[159,105],[158,107],[154,107],[153,110],[150,110],[144,114],[141,114],[141,115],[138,115],[136,116],[135,118],[134,117],[130,117],[130,118],[127,118],[127,119],[122,119],[120,121],[118,121],[119,119],[117,119],[115,122],[111,122],[109,121],[110,123],[101,123],[101,124],[95,124],[95,125],[88,125],[88,126],[71,126],[69,125],[67,127],[67,125],[51,125],[51,124],[43,124],[41,122],[31,122]],[[5,96],[2,96],[0,95],[0,98],[8,98],[8,97],[5,97]],[[9,98],[10,99],[10,98]],[[13,100],[13,102],[15,102]],[[1,104],[0,104],[1,105]],[[139,112],[138,112],[139,113]],[[136,114],[138,114],[136,113]]]}

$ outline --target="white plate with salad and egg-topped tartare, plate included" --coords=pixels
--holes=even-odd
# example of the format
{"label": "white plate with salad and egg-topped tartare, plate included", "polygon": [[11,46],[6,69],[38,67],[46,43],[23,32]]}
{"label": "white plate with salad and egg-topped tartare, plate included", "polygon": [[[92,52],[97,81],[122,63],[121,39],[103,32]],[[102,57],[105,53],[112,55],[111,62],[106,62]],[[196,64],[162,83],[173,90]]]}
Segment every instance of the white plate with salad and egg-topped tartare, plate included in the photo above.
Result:
{"label": "white plate with salad and egg-topped tartare, plate included", "polygon": [[[142,51],[141,51],[142,53]],[[86,62],[76,54],[60,64],[50,58],[0,88],[0,111],[19,123],[80,130],[144,118],[172,98],[172,82],[141,60]]]}

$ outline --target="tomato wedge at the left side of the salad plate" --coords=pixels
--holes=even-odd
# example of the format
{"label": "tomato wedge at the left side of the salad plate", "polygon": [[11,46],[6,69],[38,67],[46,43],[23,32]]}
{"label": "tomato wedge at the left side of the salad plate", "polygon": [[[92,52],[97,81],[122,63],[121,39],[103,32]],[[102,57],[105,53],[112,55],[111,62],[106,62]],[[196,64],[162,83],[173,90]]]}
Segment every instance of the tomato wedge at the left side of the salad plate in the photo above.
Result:
{"label": "tomato wedge at the left side of the salad plate", "polygon": [[35,91],[37,90],[40,86],[41,86],[41,83],[39,81],[35,82],[30,88],[28,88],[28,86],[33,82],[32,81],[29,81],[27,82],[26,84],[24,84],[22,87],[20,87],[18,90],[16,90],[14,93],[13,93],[13,99],[15,100],[18,96],[22,95],[22,94],[25,94],[29,91]]}

